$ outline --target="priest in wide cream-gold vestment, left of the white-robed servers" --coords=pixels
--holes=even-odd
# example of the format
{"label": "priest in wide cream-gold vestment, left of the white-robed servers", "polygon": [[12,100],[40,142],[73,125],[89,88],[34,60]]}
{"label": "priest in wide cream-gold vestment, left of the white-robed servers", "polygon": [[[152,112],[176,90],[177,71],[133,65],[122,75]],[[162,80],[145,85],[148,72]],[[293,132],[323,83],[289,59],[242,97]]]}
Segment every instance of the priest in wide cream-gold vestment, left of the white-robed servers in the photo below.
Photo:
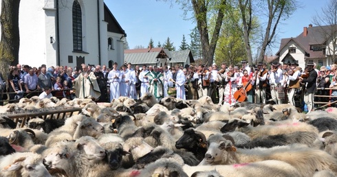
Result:
{"label": "priest in wide cream-gold vestment, left of the white-robed servers", "polygon": [[89,96],[98,99],[100,97],[100,87],[97,84],[96,76],[88,70],[86,64],[82,64],[83,72],[73,81],[78,98],[87,98]]}

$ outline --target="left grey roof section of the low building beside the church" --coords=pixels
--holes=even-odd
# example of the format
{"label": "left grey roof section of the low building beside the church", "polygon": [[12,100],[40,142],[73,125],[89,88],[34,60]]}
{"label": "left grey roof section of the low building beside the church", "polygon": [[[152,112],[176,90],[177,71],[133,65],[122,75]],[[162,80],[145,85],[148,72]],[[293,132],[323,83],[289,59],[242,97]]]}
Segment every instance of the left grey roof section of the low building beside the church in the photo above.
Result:
{"label": "left grey roof section of the low building beside the church", "polygon": [[124,53],[124,62],[132,64],[155,64],[160,52]]}

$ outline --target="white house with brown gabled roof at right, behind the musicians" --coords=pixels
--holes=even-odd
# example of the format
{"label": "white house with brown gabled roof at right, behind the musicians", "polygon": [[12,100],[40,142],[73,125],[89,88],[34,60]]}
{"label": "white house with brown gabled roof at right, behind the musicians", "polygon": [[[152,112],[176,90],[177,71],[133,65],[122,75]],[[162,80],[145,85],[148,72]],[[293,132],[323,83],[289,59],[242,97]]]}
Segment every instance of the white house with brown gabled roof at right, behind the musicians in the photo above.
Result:
{"label": "white house with brown gabled roof at right, behind the musicians", "polygon": [[[333,64],[329,49],[336,36],[336,26],[309,25],[303,27],[303,32],[296,38],[282,38],[279,51],[276,56],[283,63],[298,61],[299,66],[304,69],[307,62],[316,62],[318,66]],[[336,38],[336,37],[335,37]]]}

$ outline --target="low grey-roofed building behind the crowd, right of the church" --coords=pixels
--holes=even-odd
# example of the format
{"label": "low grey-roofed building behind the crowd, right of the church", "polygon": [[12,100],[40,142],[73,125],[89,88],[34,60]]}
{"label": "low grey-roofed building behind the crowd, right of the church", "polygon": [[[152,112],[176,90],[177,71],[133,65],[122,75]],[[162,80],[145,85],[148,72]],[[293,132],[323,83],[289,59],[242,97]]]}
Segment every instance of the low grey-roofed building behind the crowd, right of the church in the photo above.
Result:
{"label": "low grey-roofed building behind the crowd, right of the church", "polygon": [[184,51],[168,51],[162,47],[146,48],[146,49],[126,49],[124,50],[124,63],[131,62],[133,65],[156,65],[163,67],[167,65],[174,67],[175,64],[191,64],[194,62],[192,52]]}

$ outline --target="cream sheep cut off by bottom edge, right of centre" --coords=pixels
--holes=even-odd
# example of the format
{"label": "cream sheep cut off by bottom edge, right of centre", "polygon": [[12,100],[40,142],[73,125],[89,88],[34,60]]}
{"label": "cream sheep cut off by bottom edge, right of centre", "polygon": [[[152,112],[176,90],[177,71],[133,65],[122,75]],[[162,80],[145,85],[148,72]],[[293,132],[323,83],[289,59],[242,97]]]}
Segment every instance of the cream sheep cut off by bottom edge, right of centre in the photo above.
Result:
{"label": "cream sheep cut off by bottom edge, right of centre", "polygon": [[[239,163],[234,165],[198,165],[182,167],[188,176],[206,177],[206,174],[216,174],[217,176],[301,176],[298,170],[292,165],[283,161],[261,161],[254,163]],[[212,170],[212,171],[211,171]],[[215,173],[216,172],[216,173]],[[208,177],[208,176],[207,176]]]}

